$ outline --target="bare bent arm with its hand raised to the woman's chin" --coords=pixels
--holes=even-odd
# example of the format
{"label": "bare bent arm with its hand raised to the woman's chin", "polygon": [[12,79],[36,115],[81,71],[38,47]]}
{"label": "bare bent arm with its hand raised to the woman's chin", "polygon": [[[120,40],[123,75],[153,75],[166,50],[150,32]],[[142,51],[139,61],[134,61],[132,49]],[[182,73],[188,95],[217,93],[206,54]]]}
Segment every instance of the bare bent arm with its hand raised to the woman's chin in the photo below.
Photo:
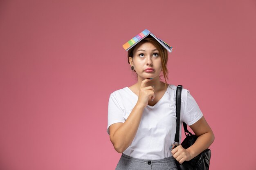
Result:
{"label": "bare bent arm with its hand raised to the woman's chin", "polygon": [[130,115],[124,123],[115,123],[109,127],[110,141],[115,150],[119,153],[124,152],[132,143],[142,117],[144,108],[149,99],[154,99],[155,90],[152,86],[145,87],[146,82],[150,79],[144,79],[141,82],[137,104],[132,109]]}

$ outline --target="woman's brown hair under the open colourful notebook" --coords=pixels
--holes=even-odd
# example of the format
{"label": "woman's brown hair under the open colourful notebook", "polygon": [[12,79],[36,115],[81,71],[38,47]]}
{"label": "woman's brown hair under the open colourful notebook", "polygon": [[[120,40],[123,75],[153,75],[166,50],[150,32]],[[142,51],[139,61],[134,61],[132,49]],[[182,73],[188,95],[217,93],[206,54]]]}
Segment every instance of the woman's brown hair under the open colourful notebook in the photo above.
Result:
{"label": "woman's brown hair under the open colourful notebook", "polygon": [[[163,69],[164,80],[165,80],[165,83],[168,84],[167,81],[166,81],[166,79],[168,79],[168,70],[167,70],[167,66],[166,66],[166,64],[168,62],[168,51],[157,40],[155,40],[155,38],[151,38],[151,37],[144,38],[138,44],[145,43],[145,42],[150,42],[159,51],[159,55],[160,55],[161,61],[162,61],[162,69]],[[135,47],[138,44],[136,44],[135,46],[133,46],[131,49],[128,50],[128,63],[129,64],[130,64],[129,57],[133,58],[133,51],[134,51]]]}

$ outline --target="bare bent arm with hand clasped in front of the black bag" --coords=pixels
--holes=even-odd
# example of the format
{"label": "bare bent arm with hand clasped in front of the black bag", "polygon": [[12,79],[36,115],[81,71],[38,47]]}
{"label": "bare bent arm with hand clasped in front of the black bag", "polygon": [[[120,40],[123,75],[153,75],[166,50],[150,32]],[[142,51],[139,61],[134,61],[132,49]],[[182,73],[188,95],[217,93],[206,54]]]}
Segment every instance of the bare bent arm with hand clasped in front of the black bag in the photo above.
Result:
{"label": "bare bent arm with hand clasped in front of the black bag", "polygon": [[179,161],[179,163],[193,159],[202,151],[209,148],[214,141],[213,131],[204,119],[204,116],[189,127],[198,138],[195,143],[187,149],[179,145],[171,151],[173,157]]}

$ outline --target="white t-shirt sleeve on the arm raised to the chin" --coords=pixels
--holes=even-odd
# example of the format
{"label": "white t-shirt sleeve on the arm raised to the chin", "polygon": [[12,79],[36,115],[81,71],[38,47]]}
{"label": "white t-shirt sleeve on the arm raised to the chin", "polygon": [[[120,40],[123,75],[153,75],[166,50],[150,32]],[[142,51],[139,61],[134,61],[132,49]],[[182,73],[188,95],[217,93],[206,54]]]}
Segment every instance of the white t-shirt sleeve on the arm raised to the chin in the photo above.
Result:
{"label": "white t-shirt sleeve on the arm raised to the chin", "polygon": [[111,94],[108,101],[108,135],[110,125],[125,122],[124,115],[124,107],[122,107],[120,101],[118,101],[117,96]]}

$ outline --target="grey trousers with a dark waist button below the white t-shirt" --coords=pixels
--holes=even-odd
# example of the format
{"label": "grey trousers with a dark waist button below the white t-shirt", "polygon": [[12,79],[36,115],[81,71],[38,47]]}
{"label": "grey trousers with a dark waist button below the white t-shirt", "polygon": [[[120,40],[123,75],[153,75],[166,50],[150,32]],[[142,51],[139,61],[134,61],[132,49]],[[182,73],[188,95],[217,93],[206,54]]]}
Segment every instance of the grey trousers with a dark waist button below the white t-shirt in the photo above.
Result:
{"label": "grey trousers with a dark waist button below the white t-shirt", "polygon": [[174,157],[158,160],[133,158],[122,153],[115,170],[178,170]]}

